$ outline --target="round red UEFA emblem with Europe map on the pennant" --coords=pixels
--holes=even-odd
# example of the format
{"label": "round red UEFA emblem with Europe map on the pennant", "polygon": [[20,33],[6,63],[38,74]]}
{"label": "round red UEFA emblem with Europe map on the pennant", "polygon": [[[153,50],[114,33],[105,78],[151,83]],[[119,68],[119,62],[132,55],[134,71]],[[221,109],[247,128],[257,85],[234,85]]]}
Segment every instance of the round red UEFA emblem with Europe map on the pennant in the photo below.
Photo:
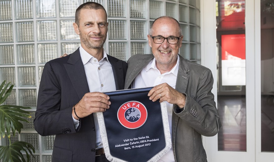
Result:
{"label": "round red UEFA emblem with Europe map on the pennant", "polygon": [[147,121],[148,111],[141,102],[129,101],[120,106],[117,117],[122,126],[136,129]]}

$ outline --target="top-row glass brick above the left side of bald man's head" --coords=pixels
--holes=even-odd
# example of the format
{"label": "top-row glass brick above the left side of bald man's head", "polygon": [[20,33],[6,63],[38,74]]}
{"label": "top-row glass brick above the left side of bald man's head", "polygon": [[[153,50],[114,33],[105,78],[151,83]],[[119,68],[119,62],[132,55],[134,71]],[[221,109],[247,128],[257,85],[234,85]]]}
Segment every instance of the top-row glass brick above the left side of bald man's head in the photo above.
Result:
{"label": "top-row glass brick above the left side of bald man's head", "polygon": [[149,18],[156,19],[164,16],[164,4],[159,1],[149,1]]}

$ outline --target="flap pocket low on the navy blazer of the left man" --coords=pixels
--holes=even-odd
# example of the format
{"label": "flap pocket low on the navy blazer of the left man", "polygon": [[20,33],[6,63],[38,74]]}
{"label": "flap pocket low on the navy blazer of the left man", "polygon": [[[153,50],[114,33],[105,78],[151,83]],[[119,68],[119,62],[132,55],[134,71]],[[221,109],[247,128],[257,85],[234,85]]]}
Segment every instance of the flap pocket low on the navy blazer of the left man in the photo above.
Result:
{"label": "flap pocket low on the navy blazer of the left man", "polygon": [[[63,149],[60,147],[53,147],[52,152],[52,161],[55,161],[53,159],[60,159],[60,161],[72,161],[72,150],[69,149]],[[59,161],[59,160],[56,160]]]}

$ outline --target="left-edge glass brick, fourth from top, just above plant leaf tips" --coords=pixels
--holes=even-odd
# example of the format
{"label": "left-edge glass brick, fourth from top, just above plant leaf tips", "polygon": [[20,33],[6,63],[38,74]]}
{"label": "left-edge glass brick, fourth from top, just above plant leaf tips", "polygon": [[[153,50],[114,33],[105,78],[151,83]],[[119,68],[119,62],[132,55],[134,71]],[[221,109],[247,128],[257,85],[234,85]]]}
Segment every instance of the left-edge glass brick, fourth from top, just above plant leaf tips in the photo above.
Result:
{"label": "left-edge glass brick, fourth from top, just above plant leaf tips", "polygon": [[11,82],[11,85],[15,84],[15,67],[0,67],[0,83],[6,81]]}

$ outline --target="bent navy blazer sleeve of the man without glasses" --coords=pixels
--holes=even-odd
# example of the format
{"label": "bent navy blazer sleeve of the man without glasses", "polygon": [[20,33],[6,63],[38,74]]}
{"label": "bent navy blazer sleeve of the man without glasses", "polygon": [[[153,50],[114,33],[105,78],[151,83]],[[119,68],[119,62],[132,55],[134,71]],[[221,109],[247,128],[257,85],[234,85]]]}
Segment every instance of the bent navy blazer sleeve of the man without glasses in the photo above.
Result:
{"label": "bent navy blazer sleeve of the man without glasses", "polygon": [[67,82],[66,78],[62,77],[64,73],[64,68],[60,64],[47,62],[44,66],[34,119],[35,130],[42,136],[76,132],[72,119],[73,101],[69,101],[72,97],[67,97],[65,102],[68,104],[61,107],[61,98],[65,98],[65,95],[70,96],[65,92],[61,95],[61,86]]}

